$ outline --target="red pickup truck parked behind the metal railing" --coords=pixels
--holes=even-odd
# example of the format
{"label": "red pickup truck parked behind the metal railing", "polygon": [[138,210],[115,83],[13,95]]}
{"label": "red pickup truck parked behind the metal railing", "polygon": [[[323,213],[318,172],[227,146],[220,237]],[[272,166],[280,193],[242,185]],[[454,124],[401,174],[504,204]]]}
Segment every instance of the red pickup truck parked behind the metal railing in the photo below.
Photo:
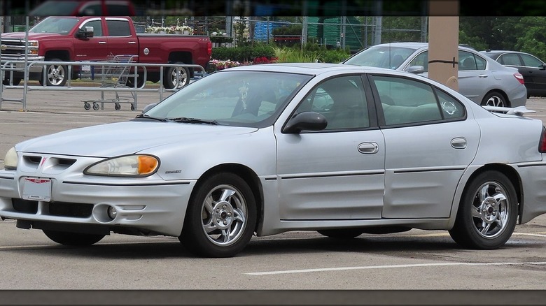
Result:
{"label": "red pickup truck parked behind the metal railing", "polygon": [[[25,32],[1,34],[1,60],[25,60]],[[197,64],[207,68],[211,59],[212,44],[209,36],[174,34],[137,34],[130,17],[47,17],[29,30],[28,61],[93,61],[104,60],[109,55],[137,55],[139,63],[146,64]],[[46,66],[48,86],[64,86],[67,80],[66,65]],[[71,78],[78,78],[79,66],[74,65]],[[164,68],[163,85],[178,88],[193,78],[193,69],[187,67]],[[137,71],[142,71],[138,68]],[[158,82],[160,68],[148,67],[146,80]],[[178,71],[178,72],[177,72]],[[139,73],[139,87],[144,82]],[[177,76],[179,78],[177,78]],[[13,85],[24,77],[21,71],[13,73]],[[10,73],[5,71],[3,84],[10,84]],[[134,79],[129,78],[132,86]],[[29,80],[43,85],[42,66],[31,65]],[[132,81],[132,82],[131,82]]]}

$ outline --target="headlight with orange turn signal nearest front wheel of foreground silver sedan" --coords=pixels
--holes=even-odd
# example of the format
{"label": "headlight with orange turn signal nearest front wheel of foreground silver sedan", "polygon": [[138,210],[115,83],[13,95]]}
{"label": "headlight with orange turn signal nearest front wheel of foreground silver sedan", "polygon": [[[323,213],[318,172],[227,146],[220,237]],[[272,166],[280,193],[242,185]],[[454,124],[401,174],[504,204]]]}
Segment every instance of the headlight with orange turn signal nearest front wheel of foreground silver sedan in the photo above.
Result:
{"label": "headlight with orange turn signal nearest front wheel of foreground silver sedan", "polygon": [[127,155],[99,161],[83,170],[87,175],[144,177],[158,170],[160,161],[151,155]]}

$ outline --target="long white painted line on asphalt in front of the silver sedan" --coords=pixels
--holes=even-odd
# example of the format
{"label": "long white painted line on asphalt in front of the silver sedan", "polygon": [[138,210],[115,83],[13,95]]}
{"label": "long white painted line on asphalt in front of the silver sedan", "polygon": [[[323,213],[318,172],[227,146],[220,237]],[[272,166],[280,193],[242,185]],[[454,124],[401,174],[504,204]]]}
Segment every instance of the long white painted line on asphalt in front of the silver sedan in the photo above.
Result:
{"label": "long white painted line on asphalt in front of the silver sedan", "polygon": [[290,273],[342,271],[342,270],[439,267],[439,266],[447,266],[447,265],[546,265],[546,261],[527,262],[527,263],[415,263],[412,265],[369,265],[369,266],[363,266],[363,267],[317,268],[317,269],[303,269],[303,270],[248,272],[244,274],[246,275],[275,275],[275,274],[290,274]]}

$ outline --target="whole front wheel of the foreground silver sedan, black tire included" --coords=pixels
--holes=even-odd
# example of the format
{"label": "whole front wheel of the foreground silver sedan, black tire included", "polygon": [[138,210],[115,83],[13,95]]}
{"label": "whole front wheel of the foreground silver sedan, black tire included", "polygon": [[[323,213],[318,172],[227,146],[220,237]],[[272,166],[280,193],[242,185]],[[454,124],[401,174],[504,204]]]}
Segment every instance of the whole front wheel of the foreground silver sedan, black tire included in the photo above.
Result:
{"label": "whole front wheel of the foreground silver sedan, black tire included", "polygon": [[248,184],[238,175],[218,173],[196,187],[179,240],[197,256],[232,257],[248,245],[256,219]]}

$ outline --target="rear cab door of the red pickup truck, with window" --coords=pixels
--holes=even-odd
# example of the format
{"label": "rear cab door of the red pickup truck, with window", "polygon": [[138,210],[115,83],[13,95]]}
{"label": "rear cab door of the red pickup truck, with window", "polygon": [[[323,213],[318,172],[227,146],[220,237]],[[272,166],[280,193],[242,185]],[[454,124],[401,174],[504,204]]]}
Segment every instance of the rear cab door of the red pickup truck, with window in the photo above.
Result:
{"label": "rear cab door of the red pickup truck, with window", "polygon": [[129,20],[119,17],[105,17],[108,28],[108,51],[113,55],[137,55],[139,44],[133,34]]}

